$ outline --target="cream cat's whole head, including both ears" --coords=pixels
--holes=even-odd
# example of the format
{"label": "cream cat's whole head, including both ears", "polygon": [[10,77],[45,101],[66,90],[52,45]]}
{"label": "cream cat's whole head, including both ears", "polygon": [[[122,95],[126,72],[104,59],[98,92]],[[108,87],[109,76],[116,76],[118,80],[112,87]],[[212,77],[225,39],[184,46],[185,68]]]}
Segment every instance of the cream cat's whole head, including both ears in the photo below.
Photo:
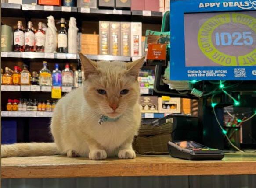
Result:
{"label": "cream cat's whole head, including both ears", "polygon": [[140,96],[137,81],[143,60],[95,63],[80,55],[85,73],[85,98],[101,115],[117,118],[134,107]]}

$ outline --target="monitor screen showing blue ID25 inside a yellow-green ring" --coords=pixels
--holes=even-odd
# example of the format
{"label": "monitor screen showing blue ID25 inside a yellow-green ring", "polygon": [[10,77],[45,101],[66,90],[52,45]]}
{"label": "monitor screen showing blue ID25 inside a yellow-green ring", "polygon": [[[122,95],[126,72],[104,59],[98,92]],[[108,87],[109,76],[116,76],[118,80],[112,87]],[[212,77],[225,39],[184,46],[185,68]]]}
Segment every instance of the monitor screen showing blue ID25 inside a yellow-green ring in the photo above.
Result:
{"label": "monitor screen showing blue ID25 inside a yellow-green ring", "polygon": [[256,11],[184,14],[185,66],[256,66]]}

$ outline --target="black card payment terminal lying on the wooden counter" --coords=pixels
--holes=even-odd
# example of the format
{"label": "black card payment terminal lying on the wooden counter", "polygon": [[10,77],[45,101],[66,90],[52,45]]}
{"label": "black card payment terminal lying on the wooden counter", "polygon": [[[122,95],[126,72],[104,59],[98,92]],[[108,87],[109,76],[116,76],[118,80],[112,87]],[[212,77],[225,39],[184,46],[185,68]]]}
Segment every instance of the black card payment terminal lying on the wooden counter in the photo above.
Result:
{"label": "black card payment terminal lying on the wooden counter", "polygon": [[168,151],[172,157],[188,160],[221,160],[222,150],[209,148],[194,141],[169,141]]}

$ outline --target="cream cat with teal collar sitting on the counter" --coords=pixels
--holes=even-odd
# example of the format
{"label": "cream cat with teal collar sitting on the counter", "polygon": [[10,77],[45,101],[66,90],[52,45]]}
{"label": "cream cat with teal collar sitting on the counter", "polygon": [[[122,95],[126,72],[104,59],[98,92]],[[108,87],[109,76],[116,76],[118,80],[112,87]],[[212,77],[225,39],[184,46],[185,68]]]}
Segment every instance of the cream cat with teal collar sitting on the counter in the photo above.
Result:
{"label": "cream cat with teal collar sitting on the counter", "polygon": [[136,157],[132,148],[141,113],[138,75],[144,57],[133,62],[94,62],[79,55],[84,85],[62,97],[53,112],[54,143],[2,145],[2,157],[67,155],[102,160]]}

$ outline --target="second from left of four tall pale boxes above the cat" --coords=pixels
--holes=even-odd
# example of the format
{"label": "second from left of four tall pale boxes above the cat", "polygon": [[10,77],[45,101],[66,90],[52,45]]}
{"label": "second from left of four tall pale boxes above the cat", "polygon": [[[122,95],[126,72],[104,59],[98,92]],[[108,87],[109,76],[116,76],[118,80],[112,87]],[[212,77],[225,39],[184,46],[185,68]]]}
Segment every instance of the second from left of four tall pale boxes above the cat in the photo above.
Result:
{"label": "second from left of four tall pale boxes above the cat", "polygon": [[110,55],[120,56],[120,22],[110,22]]}

